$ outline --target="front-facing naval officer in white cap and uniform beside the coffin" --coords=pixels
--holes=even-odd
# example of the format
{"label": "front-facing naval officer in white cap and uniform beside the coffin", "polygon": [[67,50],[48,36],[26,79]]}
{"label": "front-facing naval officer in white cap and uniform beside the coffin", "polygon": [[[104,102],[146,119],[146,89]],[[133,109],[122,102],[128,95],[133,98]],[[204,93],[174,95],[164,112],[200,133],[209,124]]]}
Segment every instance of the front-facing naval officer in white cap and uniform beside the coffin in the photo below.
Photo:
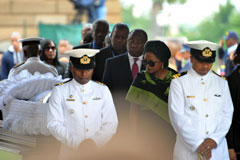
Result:
{"label": "front-facing naval officer in white cap and uniform beside the coffin", "polygon": [[79,152],[84,146],[103,146],[116,132],[112,95],[106,85],[91,80],[98,52],[75,49],[65,53],[70,56],[73,79],[53,89],[47,125],[62,142],[60,159],[69,159],[71,152]]}

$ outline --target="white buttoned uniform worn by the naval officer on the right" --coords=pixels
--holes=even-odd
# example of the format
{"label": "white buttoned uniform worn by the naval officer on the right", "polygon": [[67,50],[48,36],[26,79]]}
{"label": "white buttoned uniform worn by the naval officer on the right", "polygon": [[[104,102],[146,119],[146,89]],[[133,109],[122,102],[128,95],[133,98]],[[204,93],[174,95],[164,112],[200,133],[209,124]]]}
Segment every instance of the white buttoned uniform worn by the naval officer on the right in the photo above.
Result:
{"label": "white buttoned uniform worn by the naval officer on the right", "polygon": [[197,160],[197,148],[206,138],[217,143],[211,160],[228,160],[226,134],[233,104],[227,81],[209,71],[200,76],[192,68],[170,85],[169,116],[177,140],[174,160]]}

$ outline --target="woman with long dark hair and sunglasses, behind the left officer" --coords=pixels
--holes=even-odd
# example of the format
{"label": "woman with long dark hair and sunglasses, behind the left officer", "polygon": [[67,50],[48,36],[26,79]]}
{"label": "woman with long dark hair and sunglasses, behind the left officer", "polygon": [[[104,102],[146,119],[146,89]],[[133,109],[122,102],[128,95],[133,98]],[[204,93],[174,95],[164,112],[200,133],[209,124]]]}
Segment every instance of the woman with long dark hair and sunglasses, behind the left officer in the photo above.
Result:
{"label": "woman with long dark hair and sunglasses, behind the left officer", "polygon": [[54,66],[58,72],[58,75],[62,75],[62,78],[67,78],[67,64],[64,62],[59,62],[55,43],[50,39],[44,39],[41,40],[40,45],[42,50],[40,59],[46,64]]}

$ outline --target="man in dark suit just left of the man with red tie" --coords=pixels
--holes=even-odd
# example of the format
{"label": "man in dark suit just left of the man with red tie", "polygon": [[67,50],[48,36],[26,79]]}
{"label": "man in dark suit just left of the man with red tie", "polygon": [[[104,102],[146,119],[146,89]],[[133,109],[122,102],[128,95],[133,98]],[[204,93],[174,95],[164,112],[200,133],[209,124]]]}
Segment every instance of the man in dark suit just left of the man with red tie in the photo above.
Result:
{"label": "man in dark suit just left of the man with red tie", "polygon": [[93,80],[102,81],[105,61],[107,58],[127,53],[127,37],[129,34],[129,28],[126,24],[117,23],[113,27],[113,31],[110,35],[111,45],[103,48],[95,56],[96,67],[93,73]]}

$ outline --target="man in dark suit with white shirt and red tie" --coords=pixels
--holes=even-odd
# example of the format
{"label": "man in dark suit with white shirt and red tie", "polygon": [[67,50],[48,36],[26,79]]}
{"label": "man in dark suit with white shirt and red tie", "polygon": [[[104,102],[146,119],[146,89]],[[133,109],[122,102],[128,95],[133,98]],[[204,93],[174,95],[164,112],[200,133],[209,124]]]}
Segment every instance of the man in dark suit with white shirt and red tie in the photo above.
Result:
{"label": "man in dark suit with white shirt and red tie", "polygon": [[106,60],[103,83],[112,91],[121,131],[128,129],[126,127],[129,124],[130,107],[129,103],[125,101],[125,96],[136,76],[136,72],[144,69],[141,60],[143,59],[144,44],[146,41],[146,32],[142,29],[135,29],[128,35],[128,53]]}

